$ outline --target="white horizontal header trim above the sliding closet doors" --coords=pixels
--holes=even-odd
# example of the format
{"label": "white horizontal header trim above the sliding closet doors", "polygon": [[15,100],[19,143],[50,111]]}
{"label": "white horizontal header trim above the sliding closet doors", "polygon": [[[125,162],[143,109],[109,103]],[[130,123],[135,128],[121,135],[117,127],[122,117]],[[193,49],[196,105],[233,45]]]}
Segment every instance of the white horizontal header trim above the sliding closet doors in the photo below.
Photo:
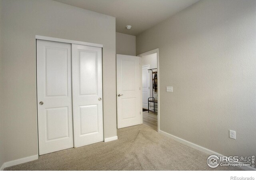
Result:
{"label": "white horizontal header trim above the sliding closet doors", "polygon": [[102,44],[95,44],[95,43],[90,43],[90,42],[82,42],[82,41],[60,39],[60,38],[52,38],[52,37],[47,37],[47,36],[38,36],[38,35],[36,35],[36,39],[55,41],[55,42],[65,42],[65,43],[69,43],[69,44],[79,44],[79,45],[103,48]]}

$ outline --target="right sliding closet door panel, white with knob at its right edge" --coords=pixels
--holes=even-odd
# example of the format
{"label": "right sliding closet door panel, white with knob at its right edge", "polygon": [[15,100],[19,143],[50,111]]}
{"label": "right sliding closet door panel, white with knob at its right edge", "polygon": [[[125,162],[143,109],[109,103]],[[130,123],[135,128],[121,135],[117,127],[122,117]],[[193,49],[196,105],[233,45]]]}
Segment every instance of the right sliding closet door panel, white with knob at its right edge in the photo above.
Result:
{"label": "right sliding closet door panel, white with knob at its right edge", "polygon": [[103,141],[102,48],[72,44],[74,146]]}

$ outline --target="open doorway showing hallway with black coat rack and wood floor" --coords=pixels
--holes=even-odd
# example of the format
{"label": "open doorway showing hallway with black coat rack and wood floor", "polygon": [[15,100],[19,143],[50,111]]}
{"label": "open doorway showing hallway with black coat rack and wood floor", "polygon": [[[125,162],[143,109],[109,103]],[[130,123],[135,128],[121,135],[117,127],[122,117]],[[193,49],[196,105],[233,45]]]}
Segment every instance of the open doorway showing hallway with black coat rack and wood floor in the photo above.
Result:
{"label": "open doorway showing hallway with black coat rack and wood floor", "polygon": [[158,49],[141,57],[142,119],[143,124],[159,131],[159,69]]}

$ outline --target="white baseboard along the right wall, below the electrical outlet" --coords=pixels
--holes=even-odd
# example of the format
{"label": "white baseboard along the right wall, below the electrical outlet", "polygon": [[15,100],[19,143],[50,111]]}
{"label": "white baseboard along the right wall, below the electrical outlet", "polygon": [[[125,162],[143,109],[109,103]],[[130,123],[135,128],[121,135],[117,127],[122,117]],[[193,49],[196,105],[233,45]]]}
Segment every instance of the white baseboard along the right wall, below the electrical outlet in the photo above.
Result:
{"label": "white baseboard along the right wall, below the electrical outlet", "polygon": [[[204,153],[206,153],[206,154],[209,154],[209,155],[214,154],[214,155],[217,155],[217,156],[224,156],[224,155],[222,155],[222,154],[220,154],[220,153],[218,153],[218,152],[215,152],[215,151],[212,151],[212,150],[210,150],[210,149],[204,148],[204,147],[202,147],[202,146],[199,146],[199,145],[197,145],[197,144],[194,144],[194,143],[192,143],[192,142],[189,142],[189,141],[187,141],[187,140],[184,140],[184,139],[182,139],[182,138],[179,138],[179,137],[177,137],[177,136],[174,136],[174,135],[169,134],[169,133],[167,133],[167,132],[164,132],[164,131],[162,131],[162,130],[159,130],[159,133],[162,134],[162,135],[164,135],[164,136],[166,136],[166,137],[168,137],[168,138],[172,138],[173,140],[176,140],[176,141],[178,141],[178,142],[180,142],[180,143],[182,143],[182,144],[185,144],[185,145],[187,145],[187,146],[190,146],[191,148],[200,150],[200,151],[202,151],[202,152],[204,152]],[[241,167],[239,167],[239,168],[241,168],[241,169],[243,169],[243,170],[250,170],[250,171],[255,171],[255,170],[256,170],[256,168],[253,168],[253,167],[251,167],[251,166],[241,166]]]}

